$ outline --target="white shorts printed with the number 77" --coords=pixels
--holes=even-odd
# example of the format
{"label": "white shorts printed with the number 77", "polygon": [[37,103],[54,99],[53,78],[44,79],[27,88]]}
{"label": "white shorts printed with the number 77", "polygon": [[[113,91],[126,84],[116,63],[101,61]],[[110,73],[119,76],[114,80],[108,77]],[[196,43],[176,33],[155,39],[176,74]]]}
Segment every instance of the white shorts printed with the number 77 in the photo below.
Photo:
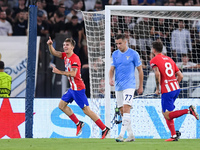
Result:
{"label": "white shorts printed with the number 77", "polygon": [[124,104],[132,106],[135,89],[125,89],[116,91],[117,107],[120,108]]}

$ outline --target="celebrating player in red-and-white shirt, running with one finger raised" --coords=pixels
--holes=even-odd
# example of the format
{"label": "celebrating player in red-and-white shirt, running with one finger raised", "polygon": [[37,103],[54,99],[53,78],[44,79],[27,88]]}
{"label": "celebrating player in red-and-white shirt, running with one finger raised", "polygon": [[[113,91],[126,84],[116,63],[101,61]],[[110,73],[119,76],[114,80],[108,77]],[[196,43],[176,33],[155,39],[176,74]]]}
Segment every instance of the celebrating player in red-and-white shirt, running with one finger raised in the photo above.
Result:
{"label": "celebrating player in red-and-white shirt, running with one finger raised", "polygon": [[52,72],[67,76],[71,86],[71,88],[63,94],[58,107],[76,124],[76,135],[78,136],[82,131],[84,123],[78,120],[72,109],[68,106],[69,103],[72,103],[73,100],[75,100],[83,112],[89,116],[97,124],[97,126],[99,126],[99,128],[101,128],[102,139],[104,139],[110,129],[103,124],[99,117],[89,107],[89,103],[85,95],[85,85],[80,74],[80,59],[73,52],[76,44],[75,41],[72,38],[65,39],[63,42],[64,52],[56,51],[53,48],[53,41],[50,37],[47,44],[49,46],[50,53],[58,58],[64,59],[65,63],[65,71],[58,70],[56,67],[52,66]]}

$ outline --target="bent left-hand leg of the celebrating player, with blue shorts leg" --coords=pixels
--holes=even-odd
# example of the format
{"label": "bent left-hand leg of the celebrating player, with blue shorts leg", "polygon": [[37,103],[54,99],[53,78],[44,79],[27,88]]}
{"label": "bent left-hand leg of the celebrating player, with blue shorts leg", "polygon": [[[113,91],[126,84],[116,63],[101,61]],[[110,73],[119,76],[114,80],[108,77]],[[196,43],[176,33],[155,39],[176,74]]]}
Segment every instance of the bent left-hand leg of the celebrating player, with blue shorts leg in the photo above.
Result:
{"label": "bent left-hand leg of the celebrating player, with blue shorts leg", "polygon": [[68,106],[73,101],[72,90],[69,89],[61,98],[58,107],[62,110],[77,126],[76,136],[81,133],[81,129],[84,126],[82,121],[76,117],[72,109]]}

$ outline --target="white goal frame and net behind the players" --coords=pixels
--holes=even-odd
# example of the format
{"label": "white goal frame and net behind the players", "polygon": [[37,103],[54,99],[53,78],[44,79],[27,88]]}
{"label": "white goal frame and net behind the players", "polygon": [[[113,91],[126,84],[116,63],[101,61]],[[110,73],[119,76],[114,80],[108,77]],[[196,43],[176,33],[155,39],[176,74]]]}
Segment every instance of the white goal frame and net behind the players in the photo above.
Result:
{"label": "white goal frame and net behind the players", "polygon": [[[115,36],[119,33],[125,34],[128,47],[140,54],[144,71],[143,95],[155,92],[155,76],[149,65],[153,57],[151,43],[161,41],[163,54],[171,57],[184,75],[179,98],[200,97],[199,7],[106,6],[105,11],[83,12],[83,16],[91,100],[97,103],[97,109],[99,98],[105,98],[105,106],[109,107],[110,98],[115,98],[108,75],[111,54],[117,49]],[[109,110],[105,111],[110,114]]]}

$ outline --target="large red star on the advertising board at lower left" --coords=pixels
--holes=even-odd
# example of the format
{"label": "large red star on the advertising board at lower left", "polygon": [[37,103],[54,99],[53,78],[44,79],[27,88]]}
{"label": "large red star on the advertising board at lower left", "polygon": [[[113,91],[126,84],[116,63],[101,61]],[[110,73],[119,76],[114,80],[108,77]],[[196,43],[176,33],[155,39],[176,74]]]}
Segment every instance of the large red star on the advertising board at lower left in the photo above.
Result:
{"label": "large red star on the advertising board at lower left", "polygon": [[21,138],[18,126],[25,121],[25,113],[14,113],[8,98],[3,99],[0,118],[0,139],[4,136]]}

